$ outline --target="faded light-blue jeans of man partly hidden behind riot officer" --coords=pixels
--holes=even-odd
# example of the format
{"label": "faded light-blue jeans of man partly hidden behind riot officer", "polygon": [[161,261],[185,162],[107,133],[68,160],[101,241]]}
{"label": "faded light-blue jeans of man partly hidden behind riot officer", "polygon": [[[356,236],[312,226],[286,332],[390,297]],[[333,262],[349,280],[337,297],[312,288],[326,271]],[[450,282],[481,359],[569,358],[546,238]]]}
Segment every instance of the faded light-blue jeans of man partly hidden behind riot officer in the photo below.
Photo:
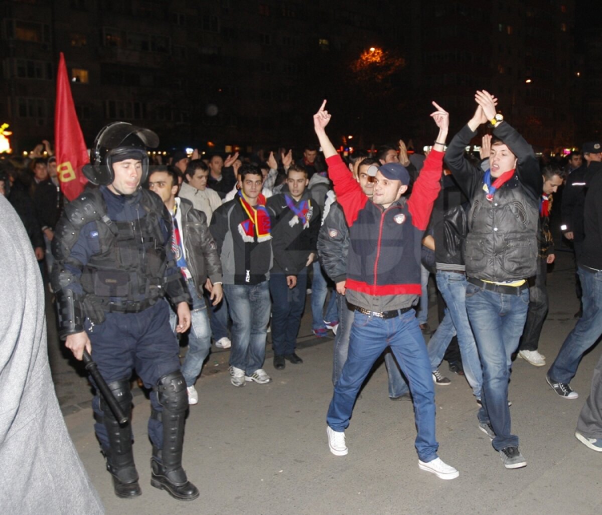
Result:
{"label": "faded light-blue jeans of man partly hidden behind riot officer", "polygon": [[[211,330],[209,329],[209,318],[205,300],[199,298],[194,288],[192,279],[187,281],[188,292],[192,298],[192,310],[190,311],[190,333],[188,333],[188,352],[182,365],[182,375],[186,380],[186,386],[194,386],[196,378],[199,377],[206,357],[211,350]],[[172,331],[176,330],[178,315],[170,312],[169,321]]]}

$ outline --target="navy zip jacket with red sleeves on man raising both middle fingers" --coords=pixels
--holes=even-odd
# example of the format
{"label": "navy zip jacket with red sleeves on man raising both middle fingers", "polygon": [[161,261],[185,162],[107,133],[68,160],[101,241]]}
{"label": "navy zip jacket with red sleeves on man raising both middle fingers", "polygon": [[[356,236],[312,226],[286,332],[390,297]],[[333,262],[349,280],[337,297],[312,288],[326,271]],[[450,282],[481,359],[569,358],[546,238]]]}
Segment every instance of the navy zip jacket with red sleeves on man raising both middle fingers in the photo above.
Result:
{"label": "navy zip jacket with red sleeves on man raising both middle fingers", "polygon": [[350,228],[346,288],[364,295],[420,295],[420,254],[441,185],[443,152],[432,150],[411,197],[383,209],[371,202],[339,155],[326,159]]}

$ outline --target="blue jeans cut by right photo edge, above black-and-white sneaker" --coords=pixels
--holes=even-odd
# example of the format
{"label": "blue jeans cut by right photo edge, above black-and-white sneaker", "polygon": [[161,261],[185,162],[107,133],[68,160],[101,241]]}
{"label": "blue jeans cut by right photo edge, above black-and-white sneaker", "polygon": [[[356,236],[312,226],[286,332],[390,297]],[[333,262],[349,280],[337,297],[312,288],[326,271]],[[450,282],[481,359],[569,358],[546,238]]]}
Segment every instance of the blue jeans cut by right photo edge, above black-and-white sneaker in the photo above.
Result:
{"label": "blue jeans cut by right photo edge, above black-and-white sneaker", "polygon": [[602,334],[602,272],[577,268],[583,295],[583,315],[566,337],[548,375],[558,383],[569,383],[577,373],[583,354]]}

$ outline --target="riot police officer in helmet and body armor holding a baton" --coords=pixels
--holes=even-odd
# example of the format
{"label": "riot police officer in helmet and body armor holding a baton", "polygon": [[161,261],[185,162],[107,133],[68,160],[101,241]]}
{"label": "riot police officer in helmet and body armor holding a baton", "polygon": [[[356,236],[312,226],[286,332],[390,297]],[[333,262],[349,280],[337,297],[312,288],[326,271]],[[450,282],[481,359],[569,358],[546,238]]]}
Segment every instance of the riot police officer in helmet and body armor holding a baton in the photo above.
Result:
{"label": "riot police officer in helmet and body armor holding a baton", "polygon": [[[190,295],[175,264],[169,214],[156,194],[140,188],[148,175],[147,147],[158,143],[154,132],[125,122],[96,136],[83,172],[99,187],[87,187],[57,224],[52,288],[66,347],[80,360],[84,348],[92,353],[126,415],[132,370],[152,389],[151,485],[190,501],[199,490],[182,469],[188,397],[164,300],[167,295],[176,307],[178,332],[184,332]],[[120,425],[98,394],[93,410],[116,495],[140,495],[131,425]]]}

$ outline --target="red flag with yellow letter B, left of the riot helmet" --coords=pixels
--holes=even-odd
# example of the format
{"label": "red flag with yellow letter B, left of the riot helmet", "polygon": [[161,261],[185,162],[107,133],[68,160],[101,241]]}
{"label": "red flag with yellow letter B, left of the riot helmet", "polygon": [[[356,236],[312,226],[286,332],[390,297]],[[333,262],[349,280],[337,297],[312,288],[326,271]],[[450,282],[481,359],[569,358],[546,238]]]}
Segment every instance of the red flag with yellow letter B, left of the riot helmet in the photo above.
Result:
{"label": "red flag with yellow letter B, left of the riot helmet", "polygon": [[88,179],[81,173],[81,168],[90,162],[90,156],[88,156],[84,134],[81,132],[75,113],[63,52],[61,52],[58,62],[54,139],[61,191],[67,199],[73,200],[84,190],[84,186],[88,182]]}

